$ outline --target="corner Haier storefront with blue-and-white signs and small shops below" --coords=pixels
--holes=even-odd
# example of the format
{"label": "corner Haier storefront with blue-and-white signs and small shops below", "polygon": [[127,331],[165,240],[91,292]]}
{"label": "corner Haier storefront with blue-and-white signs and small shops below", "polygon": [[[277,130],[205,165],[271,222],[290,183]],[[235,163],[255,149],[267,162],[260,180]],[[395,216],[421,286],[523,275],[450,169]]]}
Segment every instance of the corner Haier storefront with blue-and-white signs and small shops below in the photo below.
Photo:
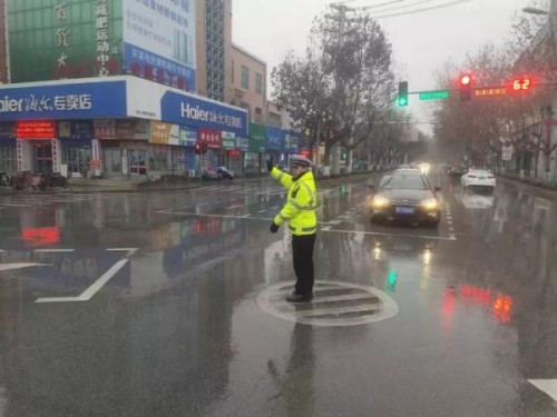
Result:
{"label": "corner Haier storefront with blue-and-white signs and small shops below", "polygon": [[135,77],[1,90],[0,170],[67,168],[80,176],[95,168],[120,178],[185,175],[197,169],[196,142],[208,141],[205,160],[215,167],[223,131],[247,137],[244,109]]}

